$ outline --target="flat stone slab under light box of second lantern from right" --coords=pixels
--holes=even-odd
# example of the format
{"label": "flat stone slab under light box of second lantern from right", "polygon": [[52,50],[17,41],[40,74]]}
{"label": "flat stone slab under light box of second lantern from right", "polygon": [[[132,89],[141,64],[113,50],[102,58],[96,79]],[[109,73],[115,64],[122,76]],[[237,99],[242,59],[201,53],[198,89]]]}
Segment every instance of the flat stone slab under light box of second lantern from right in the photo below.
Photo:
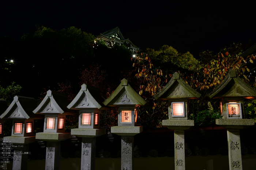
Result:
{"label": "flat stone slab under light box of second lantern from right", "polygon": [[194,120],[163,120],[163,126],[173,130],[186,130],[194,126]]}

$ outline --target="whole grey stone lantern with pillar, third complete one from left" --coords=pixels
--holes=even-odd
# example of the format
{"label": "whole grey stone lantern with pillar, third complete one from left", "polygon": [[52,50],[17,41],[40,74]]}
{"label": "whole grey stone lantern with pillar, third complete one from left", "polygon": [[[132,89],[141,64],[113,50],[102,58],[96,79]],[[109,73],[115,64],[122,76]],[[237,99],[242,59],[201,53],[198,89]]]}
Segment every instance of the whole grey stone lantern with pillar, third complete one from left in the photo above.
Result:
{"label": "whole grey stone lantern with pillar, third complete one from left", "polygon": [[96,137],[105,135],[106,129],[99,128],[100,110],[108,109],[97,88],[82,84],[68,109],[79,110],[79,128],[71,129],[71,135],[82,137],[81,170],[95,170]]}

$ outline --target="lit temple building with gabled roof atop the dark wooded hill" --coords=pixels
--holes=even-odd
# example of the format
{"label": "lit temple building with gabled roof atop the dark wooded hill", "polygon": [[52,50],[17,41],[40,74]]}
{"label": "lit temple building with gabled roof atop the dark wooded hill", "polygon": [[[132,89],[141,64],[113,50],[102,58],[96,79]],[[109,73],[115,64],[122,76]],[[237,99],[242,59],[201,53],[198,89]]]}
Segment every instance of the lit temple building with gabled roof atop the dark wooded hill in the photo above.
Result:
{"label": "lit temple building with gabled roof atop the dark wooded hill", "polygon": [[115,44],[123,44],[127,49],[131,50],[131,52],[139,50],[139,48],[135,46],[129,38],[124,38],[118,27],[99,34],[96,36],[96,39],[105,41],[109,48],[112,48]]}

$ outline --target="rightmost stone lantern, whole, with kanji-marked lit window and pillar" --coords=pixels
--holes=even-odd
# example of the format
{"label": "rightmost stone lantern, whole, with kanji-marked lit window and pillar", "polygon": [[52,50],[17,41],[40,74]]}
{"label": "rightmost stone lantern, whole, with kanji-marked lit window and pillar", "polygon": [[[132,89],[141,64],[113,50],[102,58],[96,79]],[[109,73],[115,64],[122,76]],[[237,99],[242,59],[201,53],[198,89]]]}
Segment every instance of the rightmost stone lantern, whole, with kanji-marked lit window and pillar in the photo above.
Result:
{"label": "rightmost stone lantern, whole, with kanji-marked lit window and pillar", "polygon": [[245,119],[244,99],[255,99],[256,90],[230,71],[225,80],[209,95],[210,99],[221,99],[221,119],[216,124],[227,129],[229,169],[242,170],[240,129],[254,125],[254,120]]}

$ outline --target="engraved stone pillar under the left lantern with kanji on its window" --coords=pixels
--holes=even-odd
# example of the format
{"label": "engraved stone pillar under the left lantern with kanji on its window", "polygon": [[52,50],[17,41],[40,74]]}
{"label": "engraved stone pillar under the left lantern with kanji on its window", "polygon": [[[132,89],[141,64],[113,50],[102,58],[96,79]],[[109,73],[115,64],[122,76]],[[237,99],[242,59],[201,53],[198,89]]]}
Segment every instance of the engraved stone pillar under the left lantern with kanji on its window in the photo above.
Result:
{"label": "engraved stone pillar under the left lantern with kanji on its window", "polygon": [[134,136],[122,136],[121,140],[121,170],[134,169],[133,145]]}

